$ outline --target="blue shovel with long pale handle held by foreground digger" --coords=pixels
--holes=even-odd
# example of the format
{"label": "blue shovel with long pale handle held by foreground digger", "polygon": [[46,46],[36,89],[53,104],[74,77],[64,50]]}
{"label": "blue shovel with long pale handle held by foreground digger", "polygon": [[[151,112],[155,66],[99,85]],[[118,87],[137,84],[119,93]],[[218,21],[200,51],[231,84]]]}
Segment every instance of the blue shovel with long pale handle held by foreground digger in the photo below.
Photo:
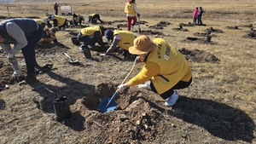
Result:
{"label": "blue shovel with long pale handle held by foreground digger", "polygon": [[[133,63],[133,66],[132,66],[132,69],[131,71],[127,74],[125,80],[122,82],[122,84],[125,83],[125,81],[131,76],[131,73],[134,72],[138,66],[141,66],[143,64],[143,62],[139,63],[136,67],[135,66],[135,63],[137,61],[137,58],[134,60],[134,63]],[[115,107],[117,107],[117,103],[114,101],[114,98],[115,96],[117,95],[119,89],[117,89],[113,96],[111,98],[109,98],[108,96],[105,96],[102,101],[99,103],[98,105],[98,109],[101,111],[101,112],[108,112],[108,111],[113,111],[115,109]]]}

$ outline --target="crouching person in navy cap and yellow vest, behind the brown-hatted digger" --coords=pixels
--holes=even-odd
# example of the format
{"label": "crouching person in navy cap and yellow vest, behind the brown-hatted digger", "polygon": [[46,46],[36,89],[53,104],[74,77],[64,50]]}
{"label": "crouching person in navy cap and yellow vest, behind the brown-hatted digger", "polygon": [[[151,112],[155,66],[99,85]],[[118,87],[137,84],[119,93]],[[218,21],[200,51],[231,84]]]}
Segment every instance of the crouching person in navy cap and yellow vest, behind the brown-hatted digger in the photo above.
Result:
{"label": "crouching person in navy cap and yellow vest, behind the brown-hatted digger", "polygon": [[128,49],[133,46],[133,41],[136,38],[136,36],[132,32],[106,30],[104,35],[108,39],[108,43],[111,43],[111,45],[106,53],[102,54],[102,56],[113,53],[113,51],[118,48],[124,49],[123,55],[125,59],[130,56]]}

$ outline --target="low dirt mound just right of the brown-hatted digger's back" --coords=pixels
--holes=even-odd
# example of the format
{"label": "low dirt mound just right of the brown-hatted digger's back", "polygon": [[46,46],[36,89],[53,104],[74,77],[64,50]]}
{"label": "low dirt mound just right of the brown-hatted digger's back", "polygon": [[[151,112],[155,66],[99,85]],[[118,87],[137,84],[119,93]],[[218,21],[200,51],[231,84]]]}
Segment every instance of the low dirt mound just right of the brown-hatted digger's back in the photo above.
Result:
{"label": "low dirt mound just right of the brown-hatted digger's back", "polygon": [[206,51],[199,50],[199,49],[178,49],[187,60],[192,60],[198,63],[202,62],[211,62],[211,63],[219,63],[220,60],[215,55],[207,53]]}

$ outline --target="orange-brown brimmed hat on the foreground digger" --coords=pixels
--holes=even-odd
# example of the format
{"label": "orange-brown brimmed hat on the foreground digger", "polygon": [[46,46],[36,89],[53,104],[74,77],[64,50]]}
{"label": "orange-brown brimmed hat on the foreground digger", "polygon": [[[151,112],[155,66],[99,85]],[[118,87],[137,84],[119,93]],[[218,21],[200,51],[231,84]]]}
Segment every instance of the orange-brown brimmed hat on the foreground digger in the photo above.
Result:
{"label": "orange-brown brimmed hat on the foreground digger", "polygon": [[154,49],[157,44],[151,42],[148,36],[143,35],[135,38],[133,45],[129,48],[129,52],[133,55],[143,55]]}

